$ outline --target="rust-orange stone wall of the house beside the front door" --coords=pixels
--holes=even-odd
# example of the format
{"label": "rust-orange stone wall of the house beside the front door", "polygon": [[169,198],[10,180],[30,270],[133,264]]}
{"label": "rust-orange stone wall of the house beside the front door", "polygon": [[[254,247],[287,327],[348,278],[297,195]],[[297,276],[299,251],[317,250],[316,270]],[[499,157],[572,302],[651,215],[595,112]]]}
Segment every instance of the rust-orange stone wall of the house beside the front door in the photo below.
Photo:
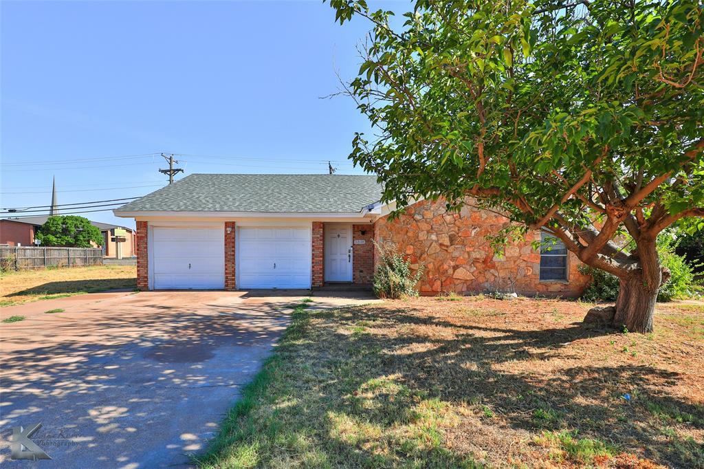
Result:
{"label": "rust-orange stone wall of the house beside the front door", "polygon": [[421,294],[440,292],[517,292],[577,296],[589,277],[577,270],[579,261],[568,254],[568,282],[539,280],[540,254],[531,242],[540,239],[532,232],[524,242],[506,246],[505,256],[494,256],[486,235],[508,225],[508,219],[491,211],[464,206],[448,213],[444,201],[420,201],[396,220],[380,218],[375,239],[393,242],[408,256],[412,268],[424,266]]}

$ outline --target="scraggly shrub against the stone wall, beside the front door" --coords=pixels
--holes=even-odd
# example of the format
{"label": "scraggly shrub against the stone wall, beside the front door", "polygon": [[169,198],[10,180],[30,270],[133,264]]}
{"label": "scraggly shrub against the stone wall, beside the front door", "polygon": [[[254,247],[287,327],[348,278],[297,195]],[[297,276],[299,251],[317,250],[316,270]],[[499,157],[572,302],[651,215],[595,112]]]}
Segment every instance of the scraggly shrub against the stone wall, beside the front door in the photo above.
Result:
{"label": "scraggly shrub against the stone wall, beside the front door", "polygon": [[379,251],[379,265],[372,279],[374,293],[379,298],[400,298],[401,296],[418,296],[416,284],[420,280],[422,268],[413,273],[410,261],[398,254],[396,246],[382,246],[375,242]]}

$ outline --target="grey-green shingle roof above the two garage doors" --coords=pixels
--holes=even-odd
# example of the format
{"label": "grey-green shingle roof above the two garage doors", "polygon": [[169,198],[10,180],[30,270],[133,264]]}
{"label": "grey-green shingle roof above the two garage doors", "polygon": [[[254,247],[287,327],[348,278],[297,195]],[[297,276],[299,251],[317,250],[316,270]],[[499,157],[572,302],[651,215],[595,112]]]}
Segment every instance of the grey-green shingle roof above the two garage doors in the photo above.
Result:
{"label": "grey-green shingle roof above the two garage doors", "polygon": [[376,176],[192,174],[117,211],[356,213],[381,195]]}

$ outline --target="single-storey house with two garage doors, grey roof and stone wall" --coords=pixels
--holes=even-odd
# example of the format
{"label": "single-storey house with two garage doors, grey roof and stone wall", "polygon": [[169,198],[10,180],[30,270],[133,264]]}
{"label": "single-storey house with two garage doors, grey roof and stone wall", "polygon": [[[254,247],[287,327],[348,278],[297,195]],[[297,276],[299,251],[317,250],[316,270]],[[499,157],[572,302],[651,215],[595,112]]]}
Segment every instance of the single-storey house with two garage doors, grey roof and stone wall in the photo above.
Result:
{"label": "single-storey house with two garage doors, grey roof and stone wall", "polygon": [[576,295],[586,277],[561,246],[526,242],[494,256],[485,235],[508,220],[420,201],[395,220],[375,176],[194,174],[114,211],[137,220],[139,289],[294,289],[368,285],[373,242],[423,268],[422,294]]}

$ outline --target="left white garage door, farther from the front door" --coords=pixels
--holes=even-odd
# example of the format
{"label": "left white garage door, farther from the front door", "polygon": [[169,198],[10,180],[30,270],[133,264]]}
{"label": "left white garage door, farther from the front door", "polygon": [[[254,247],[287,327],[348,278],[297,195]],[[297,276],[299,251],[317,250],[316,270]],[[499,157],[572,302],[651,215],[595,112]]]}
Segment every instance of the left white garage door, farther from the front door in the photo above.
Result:
{"label": "left white garage door, farther from the front door", "polygon": [[218,228],[154,227],[153,288],[225,288],[225,233]]}

